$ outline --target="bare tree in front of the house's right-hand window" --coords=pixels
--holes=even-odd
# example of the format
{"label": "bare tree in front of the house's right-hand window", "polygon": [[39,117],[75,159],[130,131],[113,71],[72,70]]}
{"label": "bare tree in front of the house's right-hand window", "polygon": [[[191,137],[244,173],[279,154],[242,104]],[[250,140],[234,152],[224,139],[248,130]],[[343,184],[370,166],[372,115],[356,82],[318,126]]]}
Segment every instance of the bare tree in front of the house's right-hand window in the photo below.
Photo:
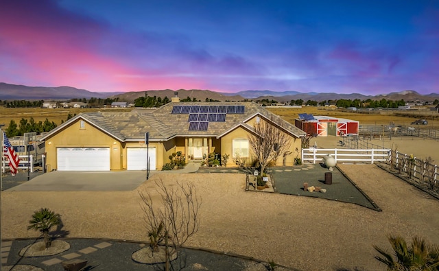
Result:
{"label": "bare tree in front of the house's right-hand window", "polygon": [[274,119],[270,121],[260,119],[259,122],[254,123],[255,134],[248,136],[250,148],[261,165],[260,176],[270,162],[277,161],[278,157],[289,152],[291,146],[291,138],[270,123],[274,121]]}

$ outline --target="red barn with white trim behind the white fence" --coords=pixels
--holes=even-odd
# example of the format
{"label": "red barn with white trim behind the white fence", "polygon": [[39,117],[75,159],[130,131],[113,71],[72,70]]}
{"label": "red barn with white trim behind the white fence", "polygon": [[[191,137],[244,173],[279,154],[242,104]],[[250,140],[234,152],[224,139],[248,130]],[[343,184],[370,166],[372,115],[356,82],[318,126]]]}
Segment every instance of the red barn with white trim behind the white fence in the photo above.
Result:
{"label": "red barn with white trim behind the white fence", "polygon": [[343,136],[348,134],[358,134],[359,121],[342,119],[328,116],[313,116],[309,114],[299,114],[295,125],[304,130],[307,134],[317,134],[318,137],[328,135]]}

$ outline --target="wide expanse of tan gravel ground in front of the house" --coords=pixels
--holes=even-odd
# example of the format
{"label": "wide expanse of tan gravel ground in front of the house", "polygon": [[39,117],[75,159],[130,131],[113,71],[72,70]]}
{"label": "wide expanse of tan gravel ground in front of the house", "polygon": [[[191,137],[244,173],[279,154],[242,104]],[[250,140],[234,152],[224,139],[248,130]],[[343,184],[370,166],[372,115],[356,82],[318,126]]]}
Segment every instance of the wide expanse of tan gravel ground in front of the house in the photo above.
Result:
{"label": "wide expanse of tan gravel ground in front of the house", "polygon": [[[69,237],[145,241],[139,192],[161,179],[193,182],[202,198],[200,231],[188,246],[272,260],[301,270],[385,270],[372,244],[386,235],[420,235],[439,243],[439,202],[375,165],[339,165],[382,212],[320,198],[245,192],[244,174],[157,174],[134,191],[1,193],[3,239],[36,237],[26,226],[34,210],[62,215]],[[155,195],[155,196],[154,196]]]}

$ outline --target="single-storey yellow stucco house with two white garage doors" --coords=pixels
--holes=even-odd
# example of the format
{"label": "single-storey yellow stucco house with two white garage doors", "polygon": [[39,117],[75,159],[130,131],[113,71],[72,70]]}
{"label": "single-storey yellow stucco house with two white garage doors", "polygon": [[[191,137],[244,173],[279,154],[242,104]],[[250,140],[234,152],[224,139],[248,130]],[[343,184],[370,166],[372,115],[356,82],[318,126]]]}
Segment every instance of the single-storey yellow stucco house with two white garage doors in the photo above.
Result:
{"label": "single-storey yellow stucco house with two white garage doors", "polygon": [[[278,165],[294,165],[306,133],[254,102],[179,102],[155,110],[81,113],[51,130],[45,140],[47,171],[161,169],[169,156],[182,152],[187,161],[201,160],[211,152],[228,154],[227,166],[237,156],[247,165],[254,159],[248,135],[253,124],[268,121],[289,136],[290,154]],[[145,133],[149,132],[149,148]]]}

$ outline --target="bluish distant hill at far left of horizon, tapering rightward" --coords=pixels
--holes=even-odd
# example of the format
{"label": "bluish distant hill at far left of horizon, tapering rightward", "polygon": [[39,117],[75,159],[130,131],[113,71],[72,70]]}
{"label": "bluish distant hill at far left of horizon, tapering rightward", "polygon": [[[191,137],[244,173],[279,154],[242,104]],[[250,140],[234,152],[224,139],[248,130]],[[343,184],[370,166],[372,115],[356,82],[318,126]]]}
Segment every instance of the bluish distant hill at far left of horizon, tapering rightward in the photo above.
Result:
{"label": "bluish distant hill at far left of horizon, tapering rightward", "polygon": [[71,86],[23,86],[17,84],[0,83],[0,99],[26,99],[26,100],[40,100],[40,99],[73,99],[73,98],[106,98],[115,93],[91,92],[85,89],[76,89]]}

